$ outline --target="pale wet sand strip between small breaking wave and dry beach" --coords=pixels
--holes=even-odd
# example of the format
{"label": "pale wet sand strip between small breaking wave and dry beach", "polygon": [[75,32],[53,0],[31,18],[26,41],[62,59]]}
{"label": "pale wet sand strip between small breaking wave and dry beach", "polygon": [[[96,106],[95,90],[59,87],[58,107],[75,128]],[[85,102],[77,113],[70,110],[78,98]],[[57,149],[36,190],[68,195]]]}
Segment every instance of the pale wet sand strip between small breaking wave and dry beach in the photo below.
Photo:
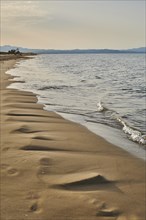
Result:
{"label": "pale wet sand strip between small breaking wave and dry beach", "polygon": [[113,144],[114,146],[127,151],[132,156],[146,161],[146,150],[143,148],[143,146],[139,146],[138,143],[129,140],[126,136],[124,137],[124,133],[122,133],[121,130],[100,123],[83,122],[83,120],[80,120],[80,122],[78,122],[78,115],[75,115],[75,117],[73,115],[72,117],[71,113],[60,113],[57,111],[56,113],[67,120],[83,125],[90,132],[93,132],[97,136],[102,137],[104,140]]}

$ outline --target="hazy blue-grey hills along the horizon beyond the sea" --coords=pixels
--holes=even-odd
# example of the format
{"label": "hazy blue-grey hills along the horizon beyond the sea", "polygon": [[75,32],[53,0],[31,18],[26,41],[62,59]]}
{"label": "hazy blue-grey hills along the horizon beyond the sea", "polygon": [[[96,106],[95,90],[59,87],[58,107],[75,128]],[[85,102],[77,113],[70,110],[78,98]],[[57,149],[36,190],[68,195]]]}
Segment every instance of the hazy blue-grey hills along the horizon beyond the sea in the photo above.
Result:
{"label": "hazy blue-grey hills along the horizon beyond the sea", "polygon": [[127,50],[113,49],[74,49],[74,50],[53,50],[53,49],[30,49],[11,45],[0,46],[0,52],[8,52],[9,50],[19,48],[22,53],[37,53],[37,54],[84,54],[84,53],[146,53],[146,47],[132,48]]}

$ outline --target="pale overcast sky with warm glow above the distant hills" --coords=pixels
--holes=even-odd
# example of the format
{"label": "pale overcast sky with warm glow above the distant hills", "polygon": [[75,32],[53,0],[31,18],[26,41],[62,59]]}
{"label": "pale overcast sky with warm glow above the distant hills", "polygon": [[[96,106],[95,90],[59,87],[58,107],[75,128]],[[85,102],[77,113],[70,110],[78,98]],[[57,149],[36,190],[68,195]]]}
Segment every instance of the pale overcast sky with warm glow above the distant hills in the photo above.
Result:
{"label": "pale overcast sky with warm glow above the distant hills", "polygon": [[1,0],[1,45],[45,49],[145,46],[145,0]]}

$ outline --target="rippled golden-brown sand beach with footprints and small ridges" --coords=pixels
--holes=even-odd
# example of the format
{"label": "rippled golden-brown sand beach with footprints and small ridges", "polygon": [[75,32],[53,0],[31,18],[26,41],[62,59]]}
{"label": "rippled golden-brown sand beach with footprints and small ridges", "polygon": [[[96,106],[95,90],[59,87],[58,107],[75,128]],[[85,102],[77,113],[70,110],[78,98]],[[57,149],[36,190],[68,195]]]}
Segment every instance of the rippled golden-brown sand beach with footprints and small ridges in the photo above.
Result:
{"label": "rippled golden-brown sand beach with footprints and small ridges", "polygon": [[1,220],[145,220],[145,162],[8,89],[1,61]]}

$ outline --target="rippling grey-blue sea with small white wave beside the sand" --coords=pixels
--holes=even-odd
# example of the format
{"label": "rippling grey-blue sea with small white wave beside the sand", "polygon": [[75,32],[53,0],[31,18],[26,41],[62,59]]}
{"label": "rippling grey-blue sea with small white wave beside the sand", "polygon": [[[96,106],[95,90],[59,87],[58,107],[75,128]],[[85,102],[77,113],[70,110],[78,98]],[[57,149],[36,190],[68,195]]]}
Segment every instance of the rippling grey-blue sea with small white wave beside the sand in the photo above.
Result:
{"label": "rippling grey-blue sea with small white wave beside the sand", "polygon": [[49,54],[23,60],[8,73],[24,81],[10,87],[36,93],[46,110],[89,129],[92,124],[91,130],[106,125],[144,148],[145,67],[144,54]]}

